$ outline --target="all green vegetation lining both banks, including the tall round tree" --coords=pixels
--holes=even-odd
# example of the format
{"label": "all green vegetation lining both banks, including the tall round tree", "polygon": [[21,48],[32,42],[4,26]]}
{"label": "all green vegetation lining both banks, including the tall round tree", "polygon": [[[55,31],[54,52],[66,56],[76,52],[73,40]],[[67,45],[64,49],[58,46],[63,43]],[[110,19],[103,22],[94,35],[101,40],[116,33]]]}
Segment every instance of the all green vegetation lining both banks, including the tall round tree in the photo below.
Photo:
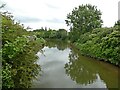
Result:
{"label": "all green vegetation lining both banks, including the tall round tree", "polygon": [[102,27],[101,11],[90,4],[75,7],[67,15],[65,29],[28,31],[15,22],[8,12],[2,18],[2,88],[29,88],[40,66],[36,53],[47,39],[59,39],[74,44],[83,55],[120,66],[120,21],[113,27]]}

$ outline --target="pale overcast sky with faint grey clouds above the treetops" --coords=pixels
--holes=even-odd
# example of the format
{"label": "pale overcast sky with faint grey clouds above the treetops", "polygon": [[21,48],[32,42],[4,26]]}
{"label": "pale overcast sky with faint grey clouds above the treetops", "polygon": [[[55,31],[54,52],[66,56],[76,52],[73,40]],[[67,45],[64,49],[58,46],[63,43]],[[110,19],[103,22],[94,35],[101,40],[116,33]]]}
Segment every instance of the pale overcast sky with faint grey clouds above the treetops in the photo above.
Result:
{"label": "pale overcast sky with faint grey clouds above the treetops", "polygon": [[103,27],[112,27],[118,20],[120,0],[0,0],[3,10],[9,11],[14,19],[32,29],[48,27],[69,29],[65,24],[68,13],[82,4],[97,6],[102,12]]}

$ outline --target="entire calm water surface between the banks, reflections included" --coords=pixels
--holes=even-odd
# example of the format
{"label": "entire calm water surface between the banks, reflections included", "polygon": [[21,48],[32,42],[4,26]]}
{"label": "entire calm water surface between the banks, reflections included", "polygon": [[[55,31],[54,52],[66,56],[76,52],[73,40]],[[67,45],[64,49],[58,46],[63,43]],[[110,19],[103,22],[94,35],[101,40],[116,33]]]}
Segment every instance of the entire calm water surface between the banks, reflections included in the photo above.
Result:
{"label": "entire calm water surface between the banks, reflections included", "polygon": [[33,80],[33,88],[118,88],[118,68],[82,56],[60,41],[48,42],[38,52],[41,75]]}

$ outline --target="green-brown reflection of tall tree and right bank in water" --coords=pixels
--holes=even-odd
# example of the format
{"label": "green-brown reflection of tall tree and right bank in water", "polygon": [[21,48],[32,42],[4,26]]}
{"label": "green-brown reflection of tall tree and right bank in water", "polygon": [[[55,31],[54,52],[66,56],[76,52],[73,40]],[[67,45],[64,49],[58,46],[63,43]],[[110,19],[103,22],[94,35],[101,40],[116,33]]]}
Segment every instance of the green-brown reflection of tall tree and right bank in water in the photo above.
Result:
{"label": "green-brown reflection of tall tree and right bank in water", "polygon": [[[107,88],[118,88],[118,67],[109,63],[97,61],[93,58],[85,57],[80,54],[74,47],[69,54],[69,62],[65,64],[65,71],[73,81],[78,84],[92,84],[98,79]],[[102,86],[101,86],[102,87]]]}

